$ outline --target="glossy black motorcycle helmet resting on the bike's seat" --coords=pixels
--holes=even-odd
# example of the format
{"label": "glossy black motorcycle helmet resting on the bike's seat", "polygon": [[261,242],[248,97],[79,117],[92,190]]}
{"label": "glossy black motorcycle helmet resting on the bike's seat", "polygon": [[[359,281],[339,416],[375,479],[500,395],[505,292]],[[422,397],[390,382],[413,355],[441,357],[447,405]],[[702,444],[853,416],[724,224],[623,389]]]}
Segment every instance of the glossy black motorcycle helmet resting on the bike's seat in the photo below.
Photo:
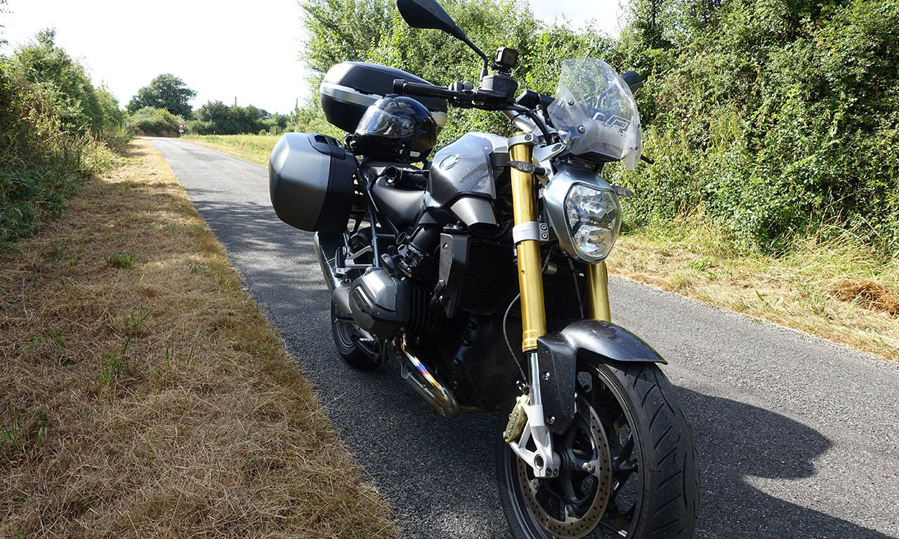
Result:
{"label": "glossy black motorcycle helmet resting on the bike's seat", "polygon": [[415,163],[426,159],[434,149],[437,132],[437,122],[422,103],[387,95],[365,111],[350,148],[354,155]]}

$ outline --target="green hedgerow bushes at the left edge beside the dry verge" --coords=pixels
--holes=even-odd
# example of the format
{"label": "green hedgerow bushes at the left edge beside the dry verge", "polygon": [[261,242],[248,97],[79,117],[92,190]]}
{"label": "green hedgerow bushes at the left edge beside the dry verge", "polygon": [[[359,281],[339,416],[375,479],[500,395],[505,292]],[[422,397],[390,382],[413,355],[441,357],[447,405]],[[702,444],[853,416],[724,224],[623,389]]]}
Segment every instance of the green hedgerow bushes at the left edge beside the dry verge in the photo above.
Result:
{"label": "green hedgerow bushes at the left edge beside the dry verge", "polygon": [[31,234],[129,135],[109,92],[42,31],[0,56],[0,251]]}

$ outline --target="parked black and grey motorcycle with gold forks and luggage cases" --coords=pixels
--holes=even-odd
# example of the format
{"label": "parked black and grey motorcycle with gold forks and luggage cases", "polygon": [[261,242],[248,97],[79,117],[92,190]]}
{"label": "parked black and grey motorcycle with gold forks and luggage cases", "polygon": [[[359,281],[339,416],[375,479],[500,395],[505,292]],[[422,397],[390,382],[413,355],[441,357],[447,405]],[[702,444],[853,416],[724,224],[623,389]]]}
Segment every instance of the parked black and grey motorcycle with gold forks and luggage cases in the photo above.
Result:
{"label": "parked black and grey motorcycle with gold forks and luggage cases", "polygon": [[[488,57],[435,0],[396,4],[410,26],[474,50],[480,83],[343,62],[322,107],[352,134],[291,133],[271,154],[276,214],[316,233],[338,354],[396,363],[447,418],[501,417],[496,480],[514,537],[690,537],[690,424],[666,361],[610,322],[605,259],[630,193],[602,170],[650,161],[632,94],[642,80],[581,58],[563,64],[555,98],[515,97],[515,50]],[[519,131],[468,133],[428,160],[449,104]]]}

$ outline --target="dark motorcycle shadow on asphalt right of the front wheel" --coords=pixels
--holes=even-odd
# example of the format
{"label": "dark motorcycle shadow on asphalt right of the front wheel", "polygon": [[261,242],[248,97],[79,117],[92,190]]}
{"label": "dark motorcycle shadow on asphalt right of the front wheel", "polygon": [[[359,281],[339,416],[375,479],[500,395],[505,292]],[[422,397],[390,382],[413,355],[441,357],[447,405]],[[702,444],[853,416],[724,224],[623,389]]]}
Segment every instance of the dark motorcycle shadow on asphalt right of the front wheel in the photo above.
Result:
{"label": "dark motorcycle shadow on asphalt right of the front wheel", "polygon": [[814,429],[743,402],[681,387],[699,449],[696,539],[890,539],[758,490],[747,476],[795,480],[815,475],[814,459],[832,442]]}

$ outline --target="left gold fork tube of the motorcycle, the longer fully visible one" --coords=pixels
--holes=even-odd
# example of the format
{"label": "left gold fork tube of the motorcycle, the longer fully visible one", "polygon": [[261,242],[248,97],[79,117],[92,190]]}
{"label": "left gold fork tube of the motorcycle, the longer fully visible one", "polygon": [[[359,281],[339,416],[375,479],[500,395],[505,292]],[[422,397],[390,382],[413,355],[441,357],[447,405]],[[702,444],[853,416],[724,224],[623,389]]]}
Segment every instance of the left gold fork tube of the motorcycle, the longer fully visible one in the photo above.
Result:
{"label": "left gold fork tube of the motorcycle, the longer fully visible one", "polygon": [[[518,133],[523,135],[523,133]],[[509,148],[513,161],[530,163],[531,146],[517,144]],[[512,169],[512,208],[515,225],[537,220],[534,178],[531,174]],[[537,338],[547,333],[547,317],[543,304],[543,275],[540,264],[540,244],[525,240],[515,246],[518,252],[518,286],[521,290],[521,349],[537,349]]]}

